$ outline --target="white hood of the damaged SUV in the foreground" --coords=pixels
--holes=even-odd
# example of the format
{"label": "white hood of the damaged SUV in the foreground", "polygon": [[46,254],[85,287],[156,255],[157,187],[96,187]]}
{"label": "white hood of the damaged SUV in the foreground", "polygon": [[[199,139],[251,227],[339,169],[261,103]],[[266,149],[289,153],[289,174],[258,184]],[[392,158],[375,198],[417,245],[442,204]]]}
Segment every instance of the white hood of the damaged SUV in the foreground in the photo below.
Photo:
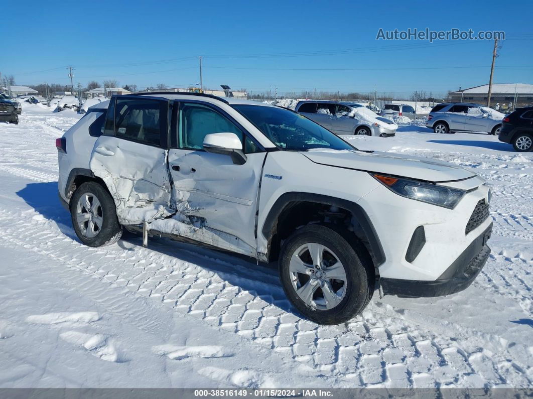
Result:
{"label": "white hood of the damaged SUV in the foreground", "polygon": [[389,152],[316,149],[302,154],[320,165],[404,176],[435,183],[475,176],[475,173],[448,162]]}

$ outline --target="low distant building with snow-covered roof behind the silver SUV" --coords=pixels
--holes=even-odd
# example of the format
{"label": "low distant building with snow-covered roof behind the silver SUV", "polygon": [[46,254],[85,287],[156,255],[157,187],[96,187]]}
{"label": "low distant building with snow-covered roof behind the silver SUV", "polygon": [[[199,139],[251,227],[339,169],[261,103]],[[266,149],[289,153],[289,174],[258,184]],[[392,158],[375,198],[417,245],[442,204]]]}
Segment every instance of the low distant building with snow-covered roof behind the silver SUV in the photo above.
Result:
{"label": "low distant building with snow-covered roof behind the silver SUV", "polygon": [[[475,86],[458,90],[451,94],[451,101],[487,103],[489,85]],[[533,104],[533,85],[525,83],[493,84],[490,104],[500,104],[501,108],[525,107]]]}

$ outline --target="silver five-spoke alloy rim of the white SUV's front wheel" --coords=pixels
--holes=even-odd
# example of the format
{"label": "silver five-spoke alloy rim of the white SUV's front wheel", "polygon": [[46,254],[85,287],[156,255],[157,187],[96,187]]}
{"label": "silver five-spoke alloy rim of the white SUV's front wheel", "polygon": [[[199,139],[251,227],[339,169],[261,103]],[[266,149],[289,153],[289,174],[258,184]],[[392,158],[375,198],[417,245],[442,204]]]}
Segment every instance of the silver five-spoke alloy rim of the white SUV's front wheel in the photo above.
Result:
{"label": "silver five-spoke alloy rim of the white SUV's front wheel", "polygon": [[333,309],[346,295],[344,265],[324,245],[310,242],[298,247],[290,258],[289,273],[293,289],[309,307]]}

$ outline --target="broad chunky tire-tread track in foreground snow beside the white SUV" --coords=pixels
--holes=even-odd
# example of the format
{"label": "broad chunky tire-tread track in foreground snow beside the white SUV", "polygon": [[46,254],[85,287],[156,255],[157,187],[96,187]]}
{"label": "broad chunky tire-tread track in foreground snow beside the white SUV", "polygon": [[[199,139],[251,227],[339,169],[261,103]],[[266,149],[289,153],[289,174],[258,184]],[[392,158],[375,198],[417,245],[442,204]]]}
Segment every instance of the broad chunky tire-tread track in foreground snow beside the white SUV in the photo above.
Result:
{"label": "broad chunky tire-tread track in foreground snow beside the white SUV", "polygon": [[[83,275],[98,276],[99,280],[233,331],[293,357],[312,373],[337,377],[356,385],[468,385],[475,382],[471,375],[479,363],[472,364],[470,358],[480,353],[483,362],[492,364],[490,369],[494,370],[493,374],[482,374],[489,385],[500,384],[502,380],[515,381],[519,386],[530,382],[527,375],[513,374],[516,368],[509,365],[511,361],[506,359],[511,356],[504,348],[500,348],[498,354],[462,348],[461,340],[451,341],[426,330],[423,325],[413,325],[400,317],[391,316],[394,310],[387,312],[373,305],[362,316],[345,325],[318,326],[287,311],[288,302],[268,273],[257,273],[259,278],[266,280],[257,283],[255,279],[239,274],[241,265],[216,262],[214,267],[206,265],[207,268],[202,268],[158,253],[156,250],[166,247],[167,241],[156,243],[156,250],[139,247],[117,250],[116,246],[87,248],[61,235],[52,222],[28,216],[20,219],[18,216],[16,211],[0,209],[0,226],[5,227],[0,232],[3,240],[51,257],[58,264],[78,268],[84,272]],[[18,222],[10,227],[9,221],[17,219]],[[193,255],[199,263],[210,262],[207,256]],[[88,289],[88,282],[84,280],[86,277],[80,274],[79,281],[72,284],[84,291],[94,290],[94,282],[89,283],[91,288]],[[100,290],[96,290],[102,298],[105,298],[106,287],[103,284]],[[105,303],[106,299],[102,302]],[[124,305],[115,304],[117,307],[111,306],[111,311],[120,314]],[[139,320],[147,320],[146,315],[139,316]],[[157,325],[156,321],[152,322]],[[453,326],[446,326],[445,331],[449,328]],[[445,353],[454,350],[465,355],[455,356],[454,365],[450,365]],[[519,367],[527,369],[524,365]],[[353,380],[354,371],[368,368],[375,368],[374,373],[368,374],[374,377]],[[428,374],[435,379],[427,377]]]}

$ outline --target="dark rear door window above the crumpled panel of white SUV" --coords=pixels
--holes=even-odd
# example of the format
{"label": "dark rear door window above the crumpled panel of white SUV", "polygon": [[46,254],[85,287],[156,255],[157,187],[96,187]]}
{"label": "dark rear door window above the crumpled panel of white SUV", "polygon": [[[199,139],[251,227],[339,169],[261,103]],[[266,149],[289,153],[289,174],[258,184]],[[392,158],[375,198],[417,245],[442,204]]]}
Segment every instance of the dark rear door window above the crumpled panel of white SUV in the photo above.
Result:
{"label": "dark rear door window above the crumpled panel of white SUV", "polygon": [[163,101],[152,99],[117,99],[115,136],[161,146],[161,132],[166,130],[163,104]]}

